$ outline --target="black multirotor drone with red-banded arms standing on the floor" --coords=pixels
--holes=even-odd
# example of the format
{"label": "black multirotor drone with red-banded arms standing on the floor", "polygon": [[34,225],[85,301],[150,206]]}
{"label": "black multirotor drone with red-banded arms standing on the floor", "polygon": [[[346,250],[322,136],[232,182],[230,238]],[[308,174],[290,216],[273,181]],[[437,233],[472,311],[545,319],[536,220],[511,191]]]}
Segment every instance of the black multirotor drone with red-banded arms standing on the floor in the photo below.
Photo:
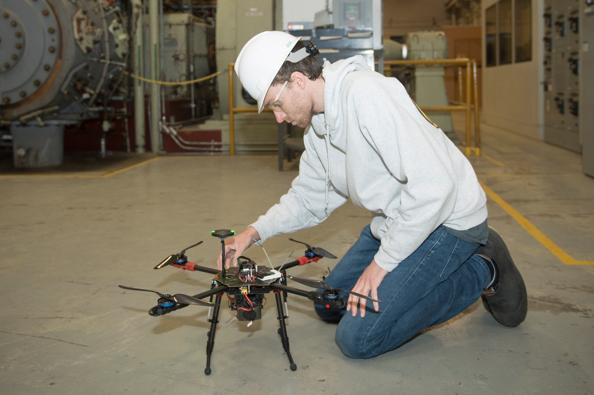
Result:
{"label": "black multirotor drone with red-banded arms standing on the floor", "polygon": [[[225,238],[234,236],[235,231],[229,229],[220,229],[213,230],[210,232],[210,234],[214,237],[220,238],[223,257],[222,262],[225,262]],[[149,310],[149,314],[154,317],[162,316],[163,314],[168,314],[171,311],[178,309],[183,309],[190,304],[195,304],[197,306],[208,306],[208,316],[210,316],[210,307],[214,307],[213,315],[210,319],[208,319],[208,322],[210,322],[210,330],[208,331],[208,341],[206,343],[206,368],[204,369],[204,373],[207,375],[211,372],[210,356],[214,348],[214,332],[217,329],[217,323],[219,323],[219,307],[223,294],[228,295],[230,309],[237,311],[237,319],[239,321],[248,321],[249,326],[252,322],[254,322],[254,320],[259,320],[261,318],[264,294],[268,294],[272,291],[274,293],[274,297],[276,298],[277,310],[279,311],[278,319],[280,328],[278,332],[283,344],[283,348],[285,349],[287,357],[289,358],[290,368],[292,371],[295,371],[297,370],[297,365],[295,362],[293,362],[293,358],[291,357],[291,353],[289,351],[289,338],[287,336],[287,329],[285,326],[285,319],[287,316],[283,311],[283,301],[280,297],[281,291],[285,301],[285,309],[287,293],[304,296],[316,303],[325,304],[328,309],[330,307],[346,307],[346,301],[340,297],[340,291],[353,294],[366,300],[377,302],[380,300],[352,291],[333,288],[323,281],[310,280],[309,278],[300,278],[290,275],[287,276],[286,269],[292,268],[293,266],[301,266],[309,264],[310,262],[317,262],[320,260],[320,258],[324,257],[336,259],[336,256],[332,255],[330,252],[327,252],[323,248],[312,247],[307,243],[299,242],[298,240],[289,240],[304,244],[307,247],[307,250],[305,250],[305,255],[301,258],[295,259],[295,261],[276,266],[275,268],[258,266],[256,262],[252,261],[246,256],[240,256],[238,258],[237,267],[225,269],[225,265],[223,264],[223,269],[220,271],[218,269],[207,268],[197,264],[192,264],[192,262],[188,262],[188,257],[185,256],[185,252],[192,247],[200,245],[202,242],[198,242],[192,246],[189,246],[178,254],[169,255],[168,258],[154,267],[155,269],[160,269],[170,265],[189,271],[201,271],[214,274],[213,281],[211,283],[211,289],[194,296],[188,296],[184,294],[175,294],[172,296],[153,290],[125,287],[124,285],[119,285],[119,287],[127,290],[148,291],[158,294],[159,300],[157,300],[157,306],[154,306]],[[298,288],[288,287],[286,285],[287,278],[307,285],[308,287],[320,288],[324,290],[324,292],[320,293],[317,291],[304,291],[299,290]],[[216,296],[216,299],[214,303],[212,303],[214,296]],[[210,301],[202,300],[206,297],[210,297]]]}

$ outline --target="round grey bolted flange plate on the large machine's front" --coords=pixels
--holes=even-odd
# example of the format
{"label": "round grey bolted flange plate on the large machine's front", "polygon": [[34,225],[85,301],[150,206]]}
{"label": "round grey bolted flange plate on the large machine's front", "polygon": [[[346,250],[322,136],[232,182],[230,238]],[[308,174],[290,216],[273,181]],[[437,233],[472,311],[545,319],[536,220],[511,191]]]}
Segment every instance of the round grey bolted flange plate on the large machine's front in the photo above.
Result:
{"label": "round grey bolted flange plate on the large machine's front", "polygon": [[0,106],[23,101],[50,84],[61,50],[58,18],[47,0],[2,0]]}

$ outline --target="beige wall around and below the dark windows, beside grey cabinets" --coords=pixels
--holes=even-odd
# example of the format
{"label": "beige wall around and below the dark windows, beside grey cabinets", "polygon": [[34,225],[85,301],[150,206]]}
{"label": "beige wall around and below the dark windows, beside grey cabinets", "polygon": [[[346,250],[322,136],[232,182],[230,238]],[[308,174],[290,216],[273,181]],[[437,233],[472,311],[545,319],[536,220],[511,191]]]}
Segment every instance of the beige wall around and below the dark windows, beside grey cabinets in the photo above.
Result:
{"label": "beige wall around and below the dark windows, beside grey cabinets", "polygon": [[[482,15],[496,2],[483,0]],[[482,121],[539,140],[544,137],[542,13],[542,0],[533,0],[530,62],[486,67],[485,28],[482,27]]]}

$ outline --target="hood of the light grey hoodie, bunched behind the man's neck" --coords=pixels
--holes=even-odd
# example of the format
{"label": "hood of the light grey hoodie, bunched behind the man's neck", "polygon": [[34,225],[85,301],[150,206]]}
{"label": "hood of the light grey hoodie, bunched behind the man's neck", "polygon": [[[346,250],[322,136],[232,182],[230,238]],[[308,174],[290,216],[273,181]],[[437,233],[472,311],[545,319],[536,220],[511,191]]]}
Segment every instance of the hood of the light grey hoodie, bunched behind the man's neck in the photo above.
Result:
{"label": "hood of the light grey hoodie, bunched behind the man's neck", "polygon": [[[361,55],[349,57],[334,63],[324,62],[324,113],[315,115],[312,123],[317,124],[314,127],[316,134],[320,136],[329,133],[330,135],[340,128],[343,120],[343,107],[340,105],[340,89],[350,72],[357,70],[371,70],[365,59]],[[321,123],[321,125],[320,125]]]}

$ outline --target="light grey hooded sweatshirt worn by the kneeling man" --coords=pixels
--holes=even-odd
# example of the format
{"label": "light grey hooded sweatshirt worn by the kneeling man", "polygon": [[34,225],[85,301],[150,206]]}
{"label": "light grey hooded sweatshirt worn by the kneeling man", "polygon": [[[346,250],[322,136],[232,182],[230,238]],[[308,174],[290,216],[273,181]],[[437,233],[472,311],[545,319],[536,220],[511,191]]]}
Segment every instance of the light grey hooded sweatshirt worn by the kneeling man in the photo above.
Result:
{"label": "light grey hooded sweatshirt worn by the kneeling man", "polygon": [[251,224],[263,241],[314,226],[350,198],[371,211],[381,240],[375,262],[392,271],[438,226],[484,223],[485,192],[472,166],[396,78],[361,56],[324,63],[323,76],[324,113],[305,131],[299,175]]}

